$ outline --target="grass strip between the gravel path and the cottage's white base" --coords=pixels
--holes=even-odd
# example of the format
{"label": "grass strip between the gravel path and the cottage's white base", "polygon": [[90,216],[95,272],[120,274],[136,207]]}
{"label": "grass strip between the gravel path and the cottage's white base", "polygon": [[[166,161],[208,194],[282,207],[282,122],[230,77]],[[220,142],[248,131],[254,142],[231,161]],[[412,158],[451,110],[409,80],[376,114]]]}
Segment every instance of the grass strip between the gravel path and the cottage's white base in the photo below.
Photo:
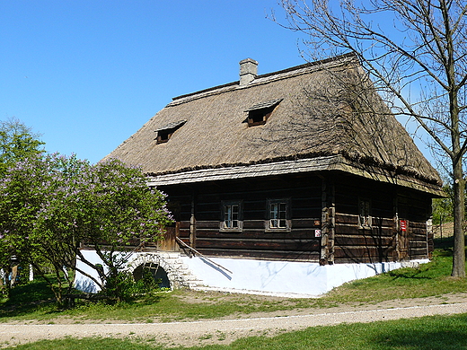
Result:
{"label": "grass strip between the gravel path and the cottage's white base", "polygon": [[[182,319],[216,319],[265,311],[288,311],[306,308],[330,308],[342,304],[384,302],[395,299],[466,293],[467,279],[450,276],[452,241],[436,241],[433,261],[419,268],[403,268],[344,284],[320,299],[280,299],[258,295],[202,293],[177,290],[154,293],[130,302],[78,302],[73,310],[59,311],[51,301],[48,286],[37,280],[13,289],[9,300],[0,300],[0,322],[57,317],[118,319],[129,322],[155,322]],[[371,293],[369,293],[371,291]]]}

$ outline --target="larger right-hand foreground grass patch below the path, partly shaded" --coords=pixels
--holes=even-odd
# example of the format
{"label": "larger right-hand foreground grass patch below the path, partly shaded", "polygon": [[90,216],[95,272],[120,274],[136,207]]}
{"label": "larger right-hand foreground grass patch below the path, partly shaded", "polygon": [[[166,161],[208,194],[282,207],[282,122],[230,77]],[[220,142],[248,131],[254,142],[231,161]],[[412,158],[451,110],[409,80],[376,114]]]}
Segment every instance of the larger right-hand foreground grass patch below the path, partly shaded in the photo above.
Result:
{"label": "larger right-hand foreground grass patch below the path, partly shaded", "polygon": [[461,314],[306,328],[277,337],[242,338],[222,348],[458,350],[466,346],[467,314]]}

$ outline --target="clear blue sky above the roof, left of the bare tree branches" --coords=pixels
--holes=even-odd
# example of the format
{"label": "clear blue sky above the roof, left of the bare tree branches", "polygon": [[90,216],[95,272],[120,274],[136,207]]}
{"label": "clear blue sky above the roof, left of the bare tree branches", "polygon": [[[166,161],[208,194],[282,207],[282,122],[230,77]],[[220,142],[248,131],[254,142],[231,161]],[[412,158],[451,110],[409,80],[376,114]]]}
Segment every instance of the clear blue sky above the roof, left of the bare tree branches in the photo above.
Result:
{"label": "clear blue sky above the roof, left of the bare tree branches", "polygon": [[301,65],[276,0],[0,0],[0,119],[98,162],[172,97]]}

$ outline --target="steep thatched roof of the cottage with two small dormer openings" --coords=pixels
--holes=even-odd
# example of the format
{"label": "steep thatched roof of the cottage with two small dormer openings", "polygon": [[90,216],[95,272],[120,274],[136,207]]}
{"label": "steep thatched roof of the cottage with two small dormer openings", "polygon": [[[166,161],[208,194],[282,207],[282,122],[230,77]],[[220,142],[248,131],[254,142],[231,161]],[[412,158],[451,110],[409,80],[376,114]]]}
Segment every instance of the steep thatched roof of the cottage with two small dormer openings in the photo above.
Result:
{"label": "steep thatched roof of the cottage with two small dormer openings", "polygon": [[[264,125],[248,125],[249,113],[268,108]],[[169,127],[170,140],[157,143]],[[271,174],[274,164],[312,160],[429,192],[441,184],[351,55],[174,98],[109,157],[141,166],[154,184],[196,181],[199,171],[238,178],[261,166]]]}

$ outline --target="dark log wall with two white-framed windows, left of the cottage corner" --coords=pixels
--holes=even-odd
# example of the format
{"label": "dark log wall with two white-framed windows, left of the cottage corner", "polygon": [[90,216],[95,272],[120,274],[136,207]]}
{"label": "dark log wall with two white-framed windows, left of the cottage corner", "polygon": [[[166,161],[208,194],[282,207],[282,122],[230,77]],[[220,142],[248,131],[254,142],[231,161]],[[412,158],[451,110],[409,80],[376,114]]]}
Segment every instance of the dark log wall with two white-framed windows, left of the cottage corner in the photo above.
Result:
{"label": "dark log wall with two white-framed windows, left of the cottage corner", "polygon": [[[315,237],[322,211],[318,177],[217,181],[164,190],[172,202],[182,203],[176,218],[181,240],[204,255],[313,262],[320,258],[321,239]],[[289,230],[265,230],[270,199],[288,200]],[[191,200],[194,208],[188,205]],[[242,230],[220,230],[225,201],[242,203]]]}

